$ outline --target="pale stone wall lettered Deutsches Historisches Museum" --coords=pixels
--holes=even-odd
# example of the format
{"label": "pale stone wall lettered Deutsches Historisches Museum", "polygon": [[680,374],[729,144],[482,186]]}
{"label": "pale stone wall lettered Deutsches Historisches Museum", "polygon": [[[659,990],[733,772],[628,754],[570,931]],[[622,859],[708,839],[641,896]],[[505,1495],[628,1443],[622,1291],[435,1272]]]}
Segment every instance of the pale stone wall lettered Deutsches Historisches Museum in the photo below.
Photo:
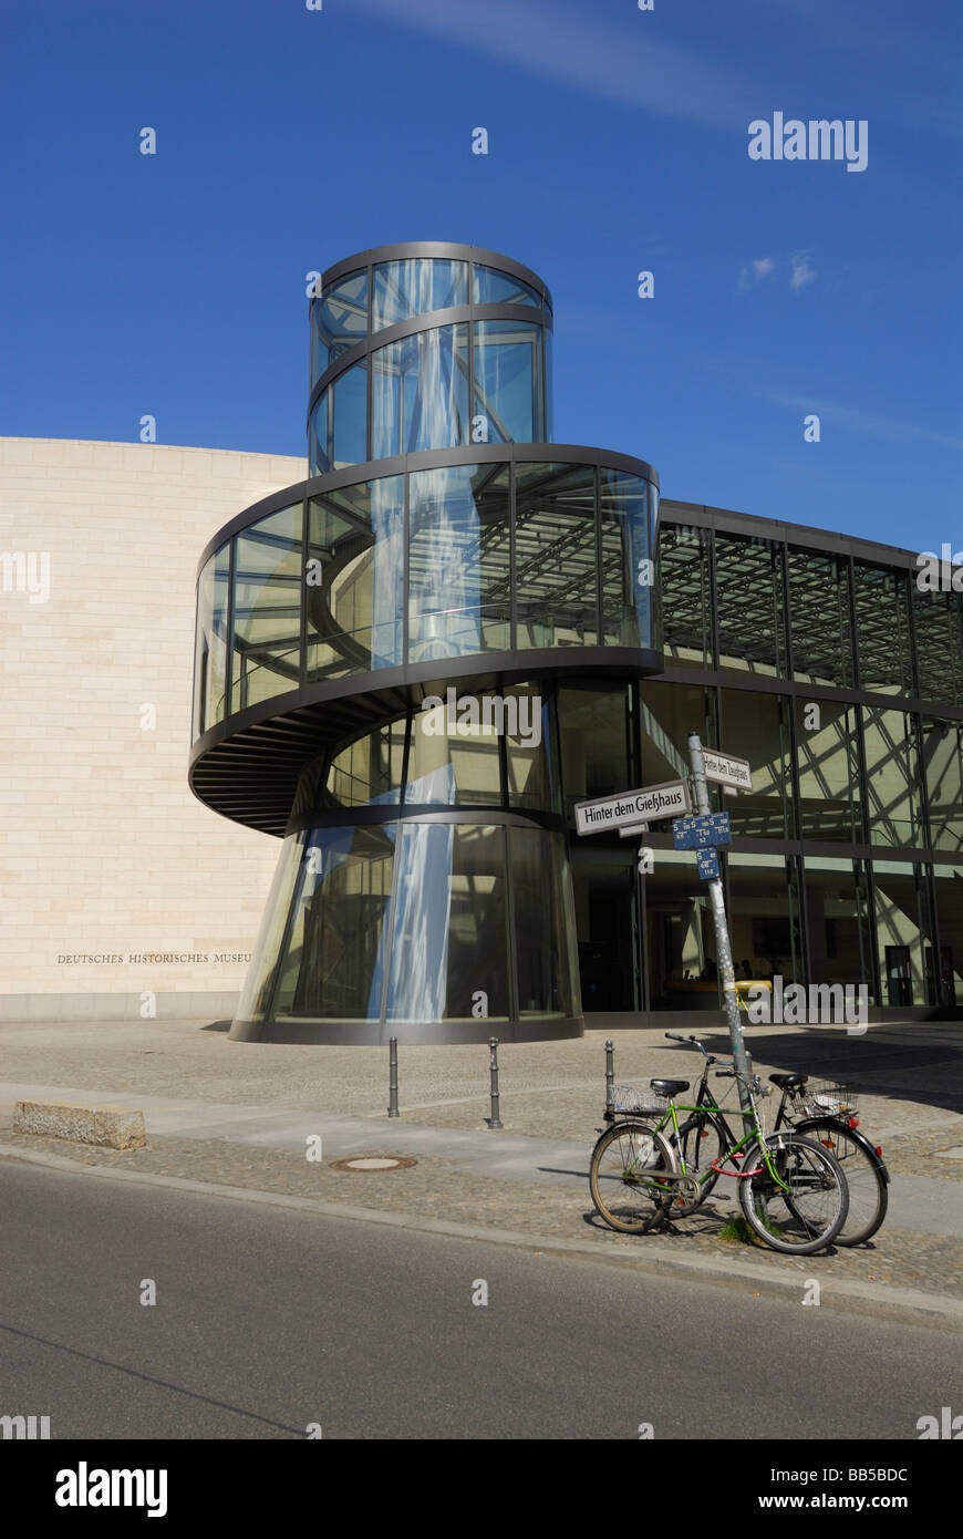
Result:
{"label": "pale stone wall lettered Deutsches Historisches Museum", "polygon": [[188,788],[195,566],[305,472],[0,440],[0,1019],[232,1014],[280,845]]}

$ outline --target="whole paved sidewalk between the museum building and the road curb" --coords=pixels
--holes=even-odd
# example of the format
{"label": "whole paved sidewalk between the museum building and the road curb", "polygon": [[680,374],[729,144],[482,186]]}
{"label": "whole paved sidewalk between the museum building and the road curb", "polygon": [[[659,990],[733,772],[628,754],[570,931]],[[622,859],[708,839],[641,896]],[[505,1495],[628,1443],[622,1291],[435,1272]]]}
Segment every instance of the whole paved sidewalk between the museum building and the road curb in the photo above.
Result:
{"label": "whole paved sidewalk between the museum building and the road curb", "polygon": [[[706,1033],[709,1036],[709,1033]],[[712,1033],[712,1048],[726,1036]],[[386,1117],[385,1048],[298,1048],[234,1043],[192,1022],[109,1027],[3,1027],[0,1154],[66,1159],[209,1187],[317,1200],[382,1214],[388,1222],[445,1220],[529,1236],[640,1265],[792,1282],[817,1279],[885,1296],[963,1300],[963,1033],[958,1025],[845,1031],[751,1028],[760,1074],[805,1065],[843,1077],[861,1094],[865,1131],[881,1140],[894,1173],[889,1216],[871,1247],[785,1257],[718,1234],[732,1213],[726,1185],[695,1219],[641,1239],[605,1228],[588,1194],[588,1160],[605,1105],[605,1034],[577,1042],[505,1047],[501,1119],[485,1128],[488,1050],[400,1050],[402,1117]],[[700,1059],[658,1033],[620,1033],[615,1077],[698,1077]],[[94,1150],[9,1131],[12,1102],[38,1097],[135,1105],[149,1147]],[[768,1102],[769,1107],[774,1100]],[[320,1136],[323,1162],[306,1157]],[[417,1160],[380,1174],[335,1171],[351,1154]],[[701,1274],[701,1273],[700,1273]],[[761,1282],[758,1284],[761,1285]]]}

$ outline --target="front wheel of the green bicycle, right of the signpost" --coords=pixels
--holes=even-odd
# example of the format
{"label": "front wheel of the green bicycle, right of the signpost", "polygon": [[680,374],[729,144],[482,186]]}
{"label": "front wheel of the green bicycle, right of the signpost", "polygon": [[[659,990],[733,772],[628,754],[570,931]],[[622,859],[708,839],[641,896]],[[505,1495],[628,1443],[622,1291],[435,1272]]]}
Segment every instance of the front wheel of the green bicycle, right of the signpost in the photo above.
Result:
{"label": "front wheel of the green bicycle, right of the signpost", "polygon": [[838,1160],[821,1143],[798,1133],[771,1133],[766,1148],[785,1187],[777,1185],[761,1162],[760,1145],[749,1148],[746,1165],[760,1163],[738,1182],[746,1224],[766,1245],[788,1256],[826,1250],[843,1228],[849,1210],[846,1177]]}

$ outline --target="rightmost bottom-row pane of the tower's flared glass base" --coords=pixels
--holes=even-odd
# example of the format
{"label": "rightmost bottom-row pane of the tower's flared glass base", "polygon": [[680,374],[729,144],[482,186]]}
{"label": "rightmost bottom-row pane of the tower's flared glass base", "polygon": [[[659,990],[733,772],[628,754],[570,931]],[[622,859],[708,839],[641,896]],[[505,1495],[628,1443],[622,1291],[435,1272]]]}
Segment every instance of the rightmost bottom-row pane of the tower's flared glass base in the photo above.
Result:
{"label": "rightmost bottom-row pane of the tower's flared glass base", "polygon": [[511,828],[518,1016],[577,1016],[578,976],[572,882],[565,836]]}

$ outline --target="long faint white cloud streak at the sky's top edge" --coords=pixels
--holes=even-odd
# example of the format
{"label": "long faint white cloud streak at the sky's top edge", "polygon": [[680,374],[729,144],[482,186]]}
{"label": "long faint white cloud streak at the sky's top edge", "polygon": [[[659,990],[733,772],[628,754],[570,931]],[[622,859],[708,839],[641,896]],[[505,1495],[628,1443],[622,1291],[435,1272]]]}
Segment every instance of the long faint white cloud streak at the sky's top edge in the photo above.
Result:
{"label": "long faint white cloud streak at the sky's top edge", "polygon": [[660,43],[649,12],[628,9],[615,23],[595,6],[546,0],[354,0],[354,9],[665,117],[745,131],[752,115],[746,83]]}

